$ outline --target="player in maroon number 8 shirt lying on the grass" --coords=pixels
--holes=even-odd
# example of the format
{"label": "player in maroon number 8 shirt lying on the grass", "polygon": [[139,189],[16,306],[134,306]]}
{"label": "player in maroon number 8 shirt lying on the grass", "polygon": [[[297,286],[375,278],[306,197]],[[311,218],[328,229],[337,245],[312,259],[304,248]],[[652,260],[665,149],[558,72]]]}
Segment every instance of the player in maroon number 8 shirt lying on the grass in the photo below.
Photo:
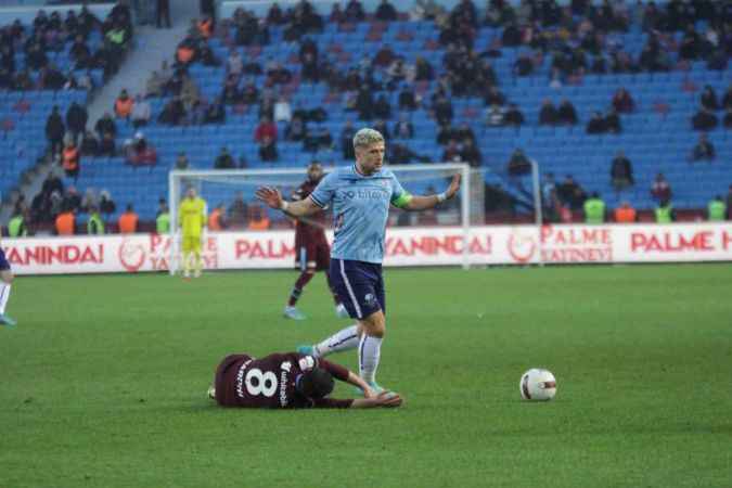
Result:
{"label": "player in maroon number 8 shirt lying on the grass", "polygon": [[[333,378],[363,390],[365,398],[336,400]],[[208,396],[222,407],[262,409],[367,409],[399,407],[401,397],[378,395],[346,368],[297,352],[272,354],[255,359],[248,355],[227,356],[216,369]]]}

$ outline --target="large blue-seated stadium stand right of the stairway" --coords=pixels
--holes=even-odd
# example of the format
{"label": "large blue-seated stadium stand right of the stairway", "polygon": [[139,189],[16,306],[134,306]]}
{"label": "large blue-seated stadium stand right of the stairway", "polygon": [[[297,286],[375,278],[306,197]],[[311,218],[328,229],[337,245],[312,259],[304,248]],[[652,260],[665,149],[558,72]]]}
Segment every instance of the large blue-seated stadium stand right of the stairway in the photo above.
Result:
{"label": "large blue-seated stadium stand right of the stairway", "polygon": [[[728,166],[732,138],[722,124],[709,128],[706,133],[716,157],[692,164],[698,140],[692,117],[704,87],[720,100],[715,111],[720,123],[722,107],[732,104],[728,63],[732,9],[728,3],[694,4],[697,11],[678,1],[658,3],[655,10],[641,3],[576,1],[561,8],[525,2],[514,8],[491,1],[488,11],[477,11],[466,0],[450,12],[421,12],[416,20],[413,12],[411,16],[397,12],[389,21],[383,20],[389,17],[384,12],[378,14],[386,15],[383,18],[373,12],[361,18],[356,1],[331,13],[316,12],[303,2],[286,12],[271,10],[267,18],[240,9],[219,22],[210,37],[193,25],[171,52],[174,82],[162,95],[147,99],[152,119],[143,128],[157,164],[139,167],[120,156],[98,158],[85,165],[76,183],[81,192],[107,188],[125,195],[136,202],[141,218],[151,221],[181,152],[198,169],[213,168],[223,146],[252,168],[304,167],[311,159],[343,164],[341,139],[347,123],[380,123],[380,117],[354,108],[383,95],[382,108],[388,108],[382,114],[385,126],[393,131],[401,117],[413,126],[413,137],[389,138],[391,147],[399,144],[407,150],[408,160],[410,155],[411,160],[442,159],[450,139],[458,144],[453,155],[468,159],[461,144],[472,132],[478,150],[472,159],[492,169],[487,183],[517,197],[521,191],[509,178],[506,165],[521,149],[539,163],[543,175],[551,172],[557,179],[572,175],[588,194],[600,192],[612,208],[622,201],[653,208],[650,189],[658,172],[673,188],[677,208],[704,208],[714,194],[725,193],[732,180]],[[232,52],[239,59],[230,61]],[[228,70],[235,75],[229,78]],[[429,70],[433,76],[426,75]],[[495,101],[487,93],[492,77],[502,94],[502,100],[496,99],[498,111],[502,114],[508,104],[515,104],[524,117],[519,126],[487,123],[491,107],[486,99]],[[188,115],[174,125],[160,121],[181,85],[190,88],[183,93]],[[363,93],[360,87],[365,88]],[[592,114],[609,114],[621,88],[634,106],[617,114],[619,128],[587,133]],[[400,110],[402,92],[409,91],[416,106]],[[216,105],[222,95],[230,99],[223,101],[224,121],[206,124],[208,105]],[[288,100],[295,120],[287,123],[285,116],[277,121],[277,157],[266,160],[272,155],[260,151],[255,132],[260,115],[271,118],[281,95]],[[194,102],[197,98],[201,103]],[[540,125],[544,100],[555,105],[568,100],[577,124]],[[167,115],[166,111],[166,120]],[[446,119],[449,127],[440,127]],[[138,129],[127,123],[117,126],[116,143],[121,146]],[[634,180],[621,190],[611,178],[619,151],[632,162]]]}

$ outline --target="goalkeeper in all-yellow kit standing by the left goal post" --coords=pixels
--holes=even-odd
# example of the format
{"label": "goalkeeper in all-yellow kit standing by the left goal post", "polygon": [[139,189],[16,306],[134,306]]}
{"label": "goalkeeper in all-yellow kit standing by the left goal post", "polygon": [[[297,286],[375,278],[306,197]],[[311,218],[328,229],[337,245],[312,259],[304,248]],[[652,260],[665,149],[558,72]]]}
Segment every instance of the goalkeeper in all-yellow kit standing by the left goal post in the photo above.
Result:
{"label": "goalkeeper in all-yellow kit standing by the left goal post", "polygon": [[193,187],[189,187],[178,213],[178,226],[181,230],[181,248],[183,252],[183,278],[191,278],[191,268],[193,268],[193,275],[198,278],[203,268],[201,239],[206,226],[206,202],[196,195]]}

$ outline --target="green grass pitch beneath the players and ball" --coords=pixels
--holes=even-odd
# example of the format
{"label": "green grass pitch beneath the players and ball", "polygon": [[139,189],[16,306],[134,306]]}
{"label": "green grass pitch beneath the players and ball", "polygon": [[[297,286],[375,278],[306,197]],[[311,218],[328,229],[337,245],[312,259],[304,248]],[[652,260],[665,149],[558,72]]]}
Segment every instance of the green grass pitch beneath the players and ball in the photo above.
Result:
{"label": "green grass pitch beneath the players and ball", "polygon": [[[281,317],[294,272],[18,278],[18,326],[0,329],[0,487],[732,486],[730,265],[385,278],[378,380],[406,404],[371,411],[206,398],[226,354],[349,323],[322,275],[299,323]],[[554,401],[521,401],[531,367],[556,375]]]}

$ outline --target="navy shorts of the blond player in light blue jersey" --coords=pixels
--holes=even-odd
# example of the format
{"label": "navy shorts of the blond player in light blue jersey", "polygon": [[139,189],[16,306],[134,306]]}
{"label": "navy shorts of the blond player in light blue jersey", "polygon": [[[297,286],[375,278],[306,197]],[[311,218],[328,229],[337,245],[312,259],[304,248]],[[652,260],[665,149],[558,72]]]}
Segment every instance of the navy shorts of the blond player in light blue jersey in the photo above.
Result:
{"label": "navy shorts of the blond player in light blue jersey", "polygon": [[382,265],[331,259],[331,283],[352,319],[386,313]]}

